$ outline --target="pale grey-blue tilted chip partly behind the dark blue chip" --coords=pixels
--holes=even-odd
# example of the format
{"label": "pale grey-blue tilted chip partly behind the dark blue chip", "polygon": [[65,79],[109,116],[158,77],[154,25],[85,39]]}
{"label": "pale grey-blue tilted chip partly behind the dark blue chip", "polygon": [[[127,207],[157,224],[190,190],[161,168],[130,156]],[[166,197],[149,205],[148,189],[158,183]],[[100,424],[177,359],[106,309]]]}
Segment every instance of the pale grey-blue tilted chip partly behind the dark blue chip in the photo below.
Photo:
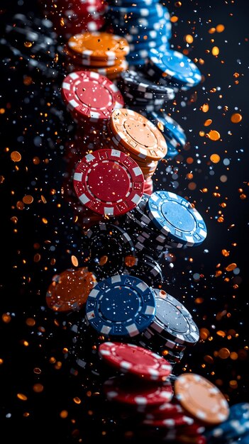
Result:
{"label": "pale grey-blue tilted chip partly behind the dark blue chip", "polygon": [[199,340],[199,329],[189,311],[177,299],[164,290],[154,289],[155,317],[150,330],[172,338],[176,343],[195,345]]}

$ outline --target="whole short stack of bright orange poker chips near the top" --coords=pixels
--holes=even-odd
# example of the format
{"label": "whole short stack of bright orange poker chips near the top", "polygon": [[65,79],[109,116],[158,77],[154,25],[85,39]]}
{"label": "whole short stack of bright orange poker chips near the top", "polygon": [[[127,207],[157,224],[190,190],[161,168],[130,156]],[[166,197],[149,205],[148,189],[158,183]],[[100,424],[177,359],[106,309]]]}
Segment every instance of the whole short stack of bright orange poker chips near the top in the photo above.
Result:
{"label": "whole short stack of bright orange poker chips near the top", "polygon": [[89,70],[114,80],[128,68],[128,42],[119,35],[104,32],[72,35],[64,52],[67,72]]}

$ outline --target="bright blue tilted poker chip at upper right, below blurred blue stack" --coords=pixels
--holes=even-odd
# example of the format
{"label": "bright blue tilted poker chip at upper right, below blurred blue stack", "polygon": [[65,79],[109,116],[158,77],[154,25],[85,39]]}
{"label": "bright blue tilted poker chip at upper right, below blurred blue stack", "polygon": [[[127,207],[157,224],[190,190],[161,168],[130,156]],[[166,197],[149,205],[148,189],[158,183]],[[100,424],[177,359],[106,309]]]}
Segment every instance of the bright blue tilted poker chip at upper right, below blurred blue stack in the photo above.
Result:
{"label": "bright blue tilted poker chip at upper right, below blurred blue stack", "polygon": [[175,50],[150,49],[149,63],[166,81],[175,82],[182,90],[187,90],[201,82],[201,72],[186,55]]}

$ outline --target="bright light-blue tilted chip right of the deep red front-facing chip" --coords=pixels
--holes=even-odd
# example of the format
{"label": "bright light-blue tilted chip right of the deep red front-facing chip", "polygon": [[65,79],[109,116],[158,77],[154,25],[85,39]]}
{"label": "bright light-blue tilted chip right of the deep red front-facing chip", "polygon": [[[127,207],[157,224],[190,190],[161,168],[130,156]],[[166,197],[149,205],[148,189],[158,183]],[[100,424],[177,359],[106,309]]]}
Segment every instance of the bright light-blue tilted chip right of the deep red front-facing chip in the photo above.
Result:
{"label": "bright light-blue tilted chip right of the deep red front-facing chip", "polygon": [[159,231],[182,245],[200,245],[206,238],[201,214],[182,196],[158,191],[147,202],[148,215]]}

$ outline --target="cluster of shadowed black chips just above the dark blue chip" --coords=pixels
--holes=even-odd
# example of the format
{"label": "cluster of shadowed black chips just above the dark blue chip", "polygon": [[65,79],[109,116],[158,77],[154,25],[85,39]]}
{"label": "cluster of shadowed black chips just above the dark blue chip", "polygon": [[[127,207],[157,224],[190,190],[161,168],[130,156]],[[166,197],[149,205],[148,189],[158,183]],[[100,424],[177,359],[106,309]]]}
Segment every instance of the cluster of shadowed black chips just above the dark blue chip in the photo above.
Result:
{"label": "cluster of shadowed black chips just above the dark blue chip", "polygon": [[86,231],[89,270],[98,279],[131,274],[150,287],[160,287],[163,281],[160,265],[150,255],[138,255],[130,235],[115,223],[99,222]]}

